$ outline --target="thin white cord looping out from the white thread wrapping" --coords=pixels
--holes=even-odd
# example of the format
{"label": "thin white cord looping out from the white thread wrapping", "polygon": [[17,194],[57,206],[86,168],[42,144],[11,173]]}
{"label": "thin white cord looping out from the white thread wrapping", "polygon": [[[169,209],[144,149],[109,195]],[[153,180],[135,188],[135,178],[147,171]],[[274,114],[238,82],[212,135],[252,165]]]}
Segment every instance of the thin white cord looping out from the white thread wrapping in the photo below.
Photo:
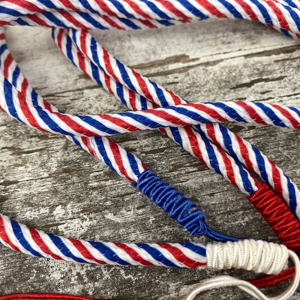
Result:
{"label": "thin white cord looping out from the white thread wrapping", "polygon": [[237,286],[258,300],[286,300],[297,289],[299,281],[300,281],[299,259],[298,259],[297,255],[291,250],[288,250],[288,256],[294,262],[294,266],[295,266],[294,277],[292,279],[292,282],[288,286],[288,288],[284,292],[282,292],[281,294],[279,294],[277,296],[268,297],[268,296],[264,295],[257,287],[252,285],[250,282],[224,275],[224,276],[216,276],[214,278],[205,280],[202,284],[200,284],[196,288],[192,289],[188,293],[188,295],[185,297],[184,300],[194,299],[194,297],[199,292],[202,292],[202,291],[205,291],[205,290],[208,290],[211,288],[226,287],[226,286]]}

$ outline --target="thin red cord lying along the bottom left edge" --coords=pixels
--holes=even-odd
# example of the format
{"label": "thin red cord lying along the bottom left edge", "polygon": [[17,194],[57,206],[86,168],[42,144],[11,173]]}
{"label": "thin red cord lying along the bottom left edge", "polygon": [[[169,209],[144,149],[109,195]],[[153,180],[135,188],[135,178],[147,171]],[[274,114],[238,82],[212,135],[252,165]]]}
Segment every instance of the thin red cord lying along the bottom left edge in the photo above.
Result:
{"label": "thin red cord lying along the bottom left edge", "polygon": [[102,298],[88,298],[84,296],[56,294],[56,293],[12,293],[0,296],[0,300],[114,300]]}

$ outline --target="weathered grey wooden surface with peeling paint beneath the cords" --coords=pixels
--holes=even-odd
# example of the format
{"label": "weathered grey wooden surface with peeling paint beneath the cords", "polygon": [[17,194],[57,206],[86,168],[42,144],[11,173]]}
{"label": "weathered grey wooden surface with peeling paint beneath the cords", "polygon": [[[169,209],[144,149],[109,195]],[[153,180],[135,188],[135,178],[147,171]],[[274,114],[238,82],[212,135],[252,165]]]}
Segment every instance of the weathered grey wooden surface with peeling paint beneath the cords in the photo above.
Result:
{"label": "weathered grey wooden surface with peeling paint beneath the cords", "polygon": [[[96,31],[127,65],[190,101],[244,99],[300,106],[300,43],[240,20],[207,20],[145,31]],[[124,111],[72,66],[43,28],[7,28],[25,76],[70,113]],[[299,133],[228,124],[300,185]],[[194,199],[208,224],[224,233],[276,241],[245,197],[158,131],[113,137],[161,178]],[[38,132],[0,113],[0,211],[22,223],[76,238],[126,242],[206,242],[190,236],[125,179],[60,136]],[[0,294],[59,292],[126,299],[182,299],[201,279],[246,271],[80,265],[38,259],[0,247]],[[266,291],[282,290],[286,284]],[[291,298],[298,299],[299,291]],[[236,288],[203,299],[247,299]]]}

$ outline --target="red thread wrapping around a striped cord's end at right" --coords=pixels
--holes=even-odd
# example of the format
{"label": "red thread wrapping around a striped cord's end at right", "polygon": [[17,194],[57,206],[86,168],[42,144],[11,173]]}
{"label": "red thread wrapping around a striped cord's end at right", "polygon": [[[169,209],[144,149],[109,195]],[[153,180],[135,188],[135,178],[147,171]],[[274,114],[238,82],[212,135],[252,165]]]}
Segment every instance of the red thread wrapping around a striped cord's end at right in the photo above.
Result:
{"label": "red thread wrapping around a striped cord's end at right", "polygon": [[258,190],[247,198],[268,222],[281,243],[295,252],[300,249],[300,223],[268,185],[259,182]]}

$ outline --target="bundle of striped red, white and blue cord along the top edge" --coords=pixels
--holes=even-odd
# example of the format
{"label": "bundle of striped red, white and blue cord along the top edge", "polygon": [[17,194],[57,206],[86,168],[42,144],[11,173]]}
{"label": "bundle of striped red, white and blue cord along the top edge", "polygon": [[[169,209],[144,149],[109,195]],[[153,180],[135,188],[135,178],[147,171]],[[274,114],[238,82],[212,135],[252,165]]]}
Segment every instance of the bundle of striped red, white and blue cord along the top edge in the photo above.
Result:
{"label": "bundle of striped red, white and blue cord along the top edge", "polygon": [[5,0],[0,25],[137,29],[226,17],[259,21],[299,38],[298,7],[284,0]]}

